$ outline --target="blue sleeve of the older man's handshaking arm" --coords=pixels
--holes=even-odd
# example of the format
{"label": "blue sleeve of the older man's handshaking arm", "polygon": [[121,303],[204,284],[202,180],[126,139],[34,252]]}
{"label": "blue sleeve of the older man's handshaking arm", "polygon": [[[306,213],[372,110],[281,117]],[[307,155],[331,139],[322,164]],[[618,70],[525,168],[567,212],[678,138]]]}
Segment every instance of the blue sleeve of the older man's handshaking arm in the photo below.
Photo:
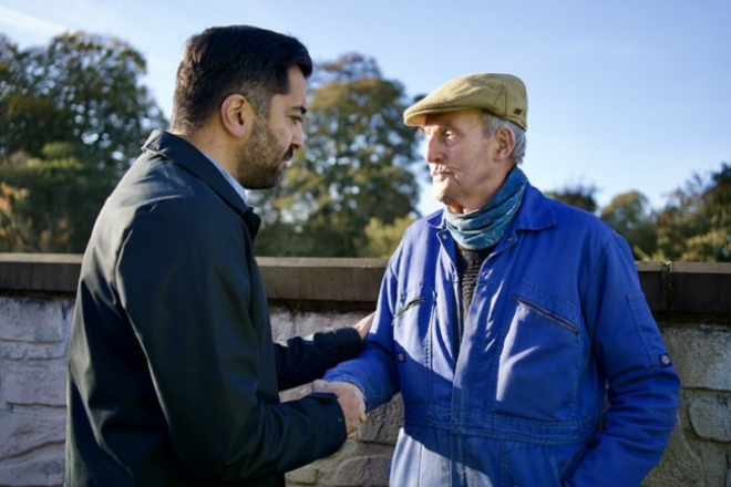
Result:
{"label": "blue sleeve of the older man's handshaking arm", "polygon": [[381,282],[378,308],[371,331],[366,339],[366,351],[357,359],[343,362],[325,374],[326,381],[350,382],[366,398],[366,411],[385,404],[400,391],[393,352],[393,313],[398,281],[392,266],[398,261],[397,250]]}

